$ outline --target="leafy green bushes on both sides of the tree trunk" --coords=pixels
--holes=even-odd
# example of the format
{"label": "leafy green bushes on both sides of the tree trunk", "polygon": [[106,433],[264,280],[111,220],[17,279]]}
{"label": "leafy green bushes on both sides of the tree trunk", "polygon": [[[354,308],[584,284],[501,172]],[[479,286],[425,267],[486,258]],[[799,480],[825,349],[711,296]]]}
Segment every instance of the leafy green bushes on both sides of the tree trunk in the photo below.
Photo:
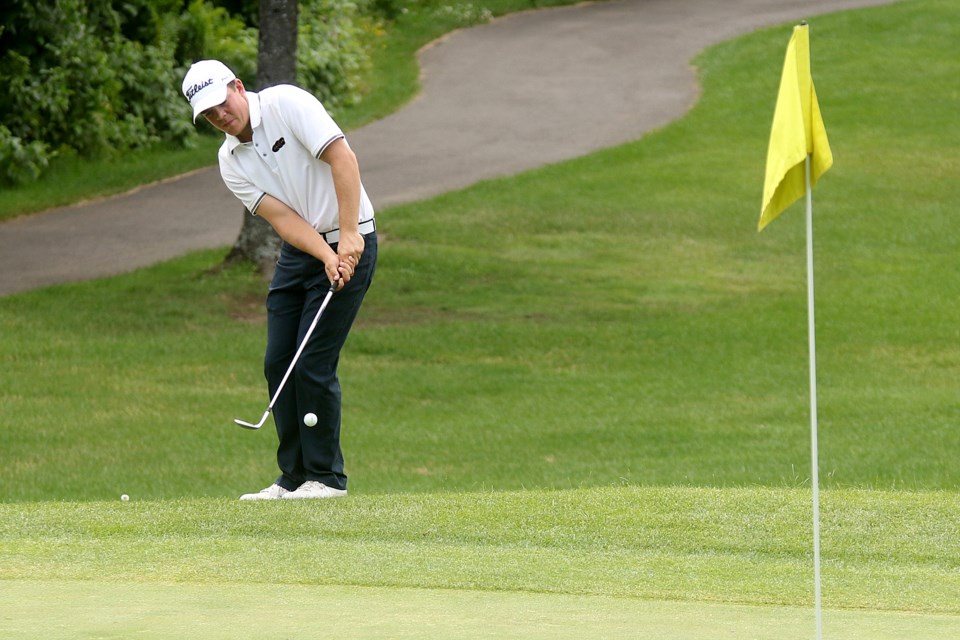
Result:
{"label": "leafy green bushes on both sides of the tree trunk", "polygon": [[[379,3],[383,6],[383,3]],[[298,83],[331,110],[356,102],[382,35],[378,4],[302,0]],[[179,95],[189,65],[223,60],[256,89],[257,3],[11,0],[0,8],[0,185],[39,178],[57,157],[190,147]]]}

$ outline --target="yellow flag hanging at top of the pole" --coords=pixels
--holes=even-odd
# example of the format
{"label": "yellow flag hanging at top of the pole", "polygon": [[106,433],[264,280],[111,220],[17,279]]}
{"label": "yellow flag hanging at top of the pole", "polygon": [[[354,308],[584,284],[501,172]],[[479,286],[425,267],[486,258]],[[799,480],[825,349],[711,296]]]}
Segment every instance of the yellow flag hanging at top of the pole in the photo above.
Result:
{"label": "yellow flag hanging at top of the pole", "polygon": [[780,93],[767,148],[758,230],[763,230],[806,193],[807,155],[811,156],[810,186],[813,187],[833,164],[833,154],[810,75],[810,31],[802,24],[793,28],[783,61]]}

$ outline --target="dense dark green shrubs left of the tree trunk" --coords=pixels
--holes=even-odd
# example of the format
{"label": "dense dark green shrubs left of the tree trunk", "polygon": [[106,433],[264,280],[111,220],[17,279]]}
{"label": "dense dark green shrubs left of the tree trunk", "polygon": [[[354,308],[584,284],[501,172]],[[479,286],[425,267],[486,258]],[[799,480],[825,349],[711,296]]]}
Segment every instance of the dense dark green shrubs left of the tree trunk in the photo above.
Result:
{"label": "dense dark green shrubs left of the tree trunk", "polygon": [[[196,135],[179,95],[189,62],[256,69],[256,31],[193,0],[11,0],[0,10],[0,184],[61,153],[97,158]],[[170,13],[170,9],[176,9]],[[166,13],[163,11],[166,10]]]}

